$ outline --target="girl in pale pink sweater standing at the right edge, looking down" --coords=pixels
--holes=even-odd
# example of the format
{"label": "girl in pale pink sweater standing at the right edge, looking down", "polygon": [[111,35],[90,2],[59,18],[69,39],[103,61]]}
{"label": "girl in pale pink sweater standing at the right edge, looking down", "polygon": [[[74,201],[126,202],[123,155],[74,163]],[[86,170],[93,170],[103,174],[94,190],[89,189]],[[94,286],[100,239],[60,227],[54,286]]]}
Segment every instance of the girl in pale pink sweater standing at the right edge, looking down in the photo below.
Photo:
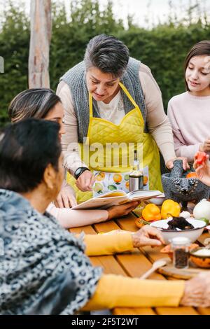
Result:
{"label": "girl in pale pink sweater standing at the right edge, looking down", "polygon": [[168,117],[177,157],[193,162],[197,151],[210,154],[210,41],[196,43],[185,60],[186,92],[170,99]]}

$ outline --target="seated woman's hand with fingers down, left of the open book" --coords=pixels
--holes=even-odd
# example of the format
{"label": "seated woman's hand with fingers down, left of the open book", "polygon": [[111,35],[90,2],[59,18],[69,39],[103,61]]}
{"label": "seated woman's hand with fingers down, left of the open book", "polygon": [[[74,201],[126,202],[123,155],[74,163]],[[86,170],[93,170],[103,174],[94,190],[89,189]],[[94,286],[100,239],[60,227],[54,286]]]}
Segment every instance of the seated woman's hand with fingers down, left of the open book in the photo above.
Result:
{"label": "seated woman's hand with fingers down, left of the open book", "polygon": [[60,190],[55,200],[55,207],[57,208],[71,208],[76,206],[75,192],[69,184],[66,183],[64,187]]}

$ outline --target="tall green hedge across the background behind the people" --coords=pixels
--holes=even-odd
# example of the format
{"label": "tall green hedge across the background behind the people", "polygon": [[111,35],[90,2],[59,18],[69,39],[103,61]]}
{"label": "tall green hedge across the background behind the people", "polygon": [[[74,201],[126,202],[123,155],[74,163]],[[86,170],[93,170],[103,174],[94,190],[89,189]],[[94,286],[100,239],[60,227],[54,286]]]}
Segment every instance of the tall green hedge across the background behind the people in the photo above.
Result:
{"label": "tall green hedge across the background behind the people", "polygon": [[[66,19],[62,4],[52,9],[52,41],[50,46],[50,82],[56,90],[59,77],[83,59],[87,42],[97,34],[113,34],[130,49],[130,54],[148,65],[160,85],[167,111],[167,102],[185,90],[183,59],[191,46],[210,39],[208,22],[184,25],[183,22],[158,25],[151,30],[132,25],[125,29],[116,20],[111,2],[100,10],[97,0],[76,0],[71,4],[71,21]],[[27,89],[29,56],[29,18],[24,11],[10,6],[1,18],[0,56],[5,72],[0,73],[0,125],[8,121],[7,108],[13,97]]]}

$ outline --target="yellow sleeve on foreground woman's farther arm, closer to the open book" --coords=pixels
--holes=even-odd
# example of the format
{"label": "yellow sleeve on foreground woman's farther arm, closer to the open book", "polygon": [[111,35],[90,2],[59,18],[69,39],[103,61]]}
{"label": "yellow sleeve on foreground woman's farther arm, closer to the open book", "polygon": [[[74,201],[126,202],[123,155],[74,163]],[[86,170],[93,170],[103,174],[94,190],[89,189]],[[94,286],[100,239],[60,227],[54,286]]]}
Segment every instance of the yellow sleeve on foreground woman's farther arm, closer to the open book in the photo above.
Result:
{"label": "yellow sleeve on foreground woman's farther arm, closer to the open book", "polygon": [[113,255],[113,253],[123,253],[133,247],[132,234],[130,232],[113,231],[110,235],[85,235],[86,255]]}

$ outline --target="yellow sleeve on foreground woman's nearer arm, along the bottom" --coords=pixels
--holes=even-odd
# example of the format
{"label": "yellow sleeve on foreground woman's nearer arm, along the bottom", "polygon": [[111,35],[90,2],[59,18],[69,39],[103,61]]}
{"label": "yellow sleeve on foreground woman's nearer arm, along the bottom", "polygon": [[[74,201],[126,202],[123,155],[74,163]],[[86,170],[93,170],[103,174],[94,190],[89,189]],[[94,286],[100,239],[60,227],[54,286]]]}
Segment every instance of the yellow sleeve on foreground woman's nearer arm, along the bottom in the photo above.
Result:
{"label": "yellow sleeve on foreground woman's nearer arm, along the bottom", "polygon": [[178,307],[184,281],[140,280],[103,275],[83,311],[113,307]]}

